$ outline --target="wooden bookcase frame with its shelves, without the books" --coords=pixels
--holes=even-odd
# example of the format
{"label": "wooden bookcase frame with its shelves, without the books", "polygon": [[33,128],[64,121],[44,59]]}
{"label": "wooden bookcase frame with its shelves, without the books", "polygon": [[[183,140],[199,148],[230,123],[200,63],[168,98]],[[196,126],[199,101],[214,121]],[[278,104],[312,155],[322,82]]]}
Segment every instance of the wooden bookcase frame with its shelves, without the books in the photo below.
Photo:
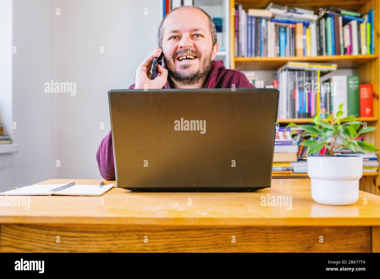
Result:
{"label": "wooden bookcase frame with its shelves, without the books", "polygon": [[[234,8],[236,3],[242,4],[243,9],[265,9],[271,2],[282,6],[294,6],[298,8],[312,9],[318,14],[320,8],[336,8],[367,13],[374,9],[374,37],[375,50],[370,55],[333,55],[333,56],[314,56],[314,57],[234,57],[234,15],[230,15],[230,68],[238,70],[275,70],[283,66],[288,61],[300,62],[325,62],[337,64],[339,68],[356,68],[356,74],[360,77],[361,84],[374,85],[374,117],[359,118],[360,121],[370,122],[371,126],[376,126],[374,132],[364,133],[364,140],[377,147],[380,146],[380,121],[379,121],[379,92],[380,92],[380,1],[379,0],[319,0],[317,3],[310,0],[230,0],[230,8]],[[279,119],[279,123],[311,123],[311,118],[292,118]],[[273,173],[274,178],[302,178],[307,177],[307,173]],[[360,189],[372,194],[380,195],[379,172],[364,172],[360,180]]]}

